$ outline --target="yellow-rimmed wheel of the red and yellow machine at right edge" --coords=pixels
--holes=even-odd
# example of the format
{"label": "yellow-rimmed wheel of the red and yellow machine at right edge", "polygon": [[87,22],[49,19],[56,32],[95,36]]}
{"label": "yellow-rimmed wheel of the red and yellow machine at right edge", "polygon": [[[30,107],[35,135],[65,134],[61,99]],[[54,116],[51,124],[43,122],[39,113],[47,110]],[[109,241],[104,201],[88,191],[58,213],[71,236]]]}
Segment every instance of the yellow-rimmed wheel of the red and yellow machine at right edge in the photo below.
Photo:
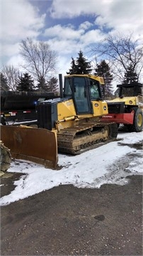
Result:
{"label": "yellow-rimmed wheel of the red and yellow machine at right edge", "polygon": [[130,132],[142,132],[142,110],[139,107],[133,107],[132,110],[135,111],[134,122],[128,129]]}

